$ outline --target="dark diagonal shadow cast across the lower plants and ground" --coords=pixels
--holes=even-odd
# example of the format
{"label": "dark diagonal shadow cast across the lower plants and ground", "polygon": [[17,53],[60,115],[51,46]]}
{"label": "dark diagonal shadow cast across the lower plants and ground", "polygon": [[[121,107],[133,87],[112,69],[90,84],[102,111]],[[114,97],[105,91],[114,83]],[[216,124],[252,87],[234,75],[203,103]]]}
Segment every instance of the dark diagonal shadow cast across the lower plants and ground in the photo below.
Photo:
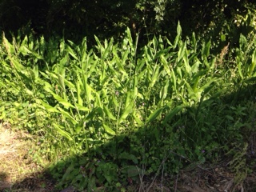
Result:
{"label": "dark diagonal shadow cast across the lower plants and ground", "polygon": [[[202,102],[200,107],[203,106],[202,109],[206,109],[205,111],[208,111],[211,115],[215,114],[215,117],[212,117],[213,119],[219,117],[219,114],[216,113],[219,113],[220,110],[216,109],[224,109],[223,113],[225,113],[225,109],[230,109],[230,107],[237,107],[236,109],[238,109],[240,104],[244,105],[245,103],[254,105],[256,111],[255,88],[255,84],[238,88],[232,94],[214,98],[213,101],[210,101],[210,99],[206,100]],[[248,102],[245,102],[246,100]],[[253,107],[250,109],[253,109]],[[135,133],[119,135],[112,138],[110,142],[91,149],[90,154],[68,157],[65,160],[62,159],[49,169],[40,173],[34,173],[30,177],[24,178],[21,182],[14,183],[12,190],[2,189],[0,191],[121,191],[122,186],[126,187],[126,190],[123,191],[144,191],[150,187],[151,191],[174,191],[177,189],[180,191],[216,191],[220,189],[217,186],[219,183],[223,183],[222,187],[225,187],[224,184],[234,186],[234,174],[231,173],[232,171],[227,166],[230,162],[230,157],[222,154],[223,149],[210,151],[211,155],[223,155],[222,158],[224,160],[217,156],[217,162],[208,162],[208,154],[206,154],[203,157],[205,159],[204,162],[193,164],[193,162],[190,162],[193,154],[186,154],[189,151],[188,147],[190,147],[190,151],[196,151],[197,146],[193,146],[193,142],[190,142],[191,146],[186,146],[182,143],[182,139],[188,139],[184,138],[187,132],[186,129],[189,128],[190,131],[188,133],[193,134],[191,132],[193,127],[186,127],[185,130],[180,130],[182,129],[182,123],[184,124],[185,122],[180,122],[179,120],[192,121],[191,119],[195,117],[191,114],[197,110],[198,106],[186,109],[186,113],[177,114],[166,126],[154,123],[152,126],[146,126]],[[204,113],[203,110],[202,113]],[[242,116],[241,118],[246,119],[247,117]],[[251,120],[253,121],[253,119]],[[192,126],[190,123],[186,125]],[[246,129],[246,126],[250,126],[250,129]],[[170,127],[172,130],[169,129]],[[222,127],[222,129],[226,129],[226,127]],[[256,146],[256,123],[252,122],[251,125],[243,125],[241,130],[243,131],[243,138],[241,140],[248,143],[248,148],[244,155],[246,155],[246,163],[250,167],[251,172],[248,172],[244,186],[236,187],[240,187],[240,189],[245,191],[255,191],[256,178],[253,173],[256,169],[253,165],[256,164],[256,154],[254,154],[254,150],[256,151],[256,147],[254,147]],[[179,131],[181,134],[179,134]],[[218,134],[218,130],[216,130],[216,134]],[[227,132],[227,134],[229,133]],[[206,137],[206,135],[204,136]],[[236,141],[234,142],[237,144],[238,138],[235,139]],[[216,140],[216,142],[219,141]],[[227,139],[222,142],[230,142],[230,140]],[[223,143],[221,143],[222,145]],[[239,146],[237,150],[239,151]],[[197,162],[195,159],[192,160]],[[219,166],[216,166],[216,163]],[[146,165],[146,167],[142,165]],[[193,167],[193,165],[195,166]],[[214,165],[214,168],[209,168],[213,167],[212,165]],[[165,170],[162,167],[165,167]],[[150,170],[153,172],[142,178],[143,170],[146,170],[148,173],[150,173]],[[158,172],[159,170],[160,172]],[[156,172],[158,172],[158,176],[154,177]],[[171,172],[178,174],[170,175]],[[50,173],[53,175],[50,175]],[[1,175],[4,174],[2,173]],[[218,175],[216,176],[216,174]],[[193,177],[197,178],[199,176],[201,179],[194,180]],[[207,178],[203,178],[206,176]],[[56,178],[62,178],[62,181],[57,185],[59,188],[55,187],[55,184],[57,184],[55,182]],[[225,179],[226,182],[223,182]],[[204,182],[205,184],[200,186],[199,182]],[[102,183],[106,183],[106,185],[103,186]],[[211,188],[207,188],[207,185]],[[79,186],[83,186],[87,190],[81,190]],[[226,186],[226,189],[228,189],[228,186]]]}

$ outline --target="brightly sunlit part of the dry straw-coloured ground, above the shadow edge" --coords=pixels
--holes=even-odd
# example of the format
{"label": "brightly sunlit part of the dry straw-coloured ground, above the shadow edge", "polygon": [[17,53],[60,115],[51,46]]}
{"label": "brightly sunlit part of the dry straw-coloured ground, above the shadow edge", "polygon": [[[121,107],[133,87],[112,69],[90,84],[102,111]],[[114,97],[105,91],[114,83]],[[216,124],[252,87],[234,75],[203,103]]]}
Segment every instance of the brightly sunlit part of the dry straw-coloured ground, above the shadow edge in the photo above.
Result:
{"label": "brightly sunlit part of the dry straw-coloured ground, above the shadow edge", "polygon": [[31,139],[24,131],[14,131],[0,124],[0,190],[11,189],[28,174],[42,170],[30,154],[34,147]]}

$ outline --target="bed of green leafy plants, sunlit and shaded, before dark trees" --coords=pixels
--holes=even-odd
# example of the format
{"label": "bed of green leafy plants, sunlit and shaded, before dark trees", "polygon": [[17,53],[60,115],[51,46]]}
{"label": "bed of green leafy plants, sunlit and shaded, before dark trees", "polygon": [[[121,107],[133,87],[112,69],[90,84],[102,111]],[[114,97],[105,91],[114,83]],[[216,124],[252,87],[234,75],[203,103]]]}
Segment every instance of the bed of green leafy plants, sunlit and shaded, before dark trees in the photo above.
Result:
{"label": "bed of green leafy plants, sunlit and shaded, before dark trees", "polygon": [[122,42],[95,37],[91,50],[86,38],[3,34],[0,118],[34,135],[56,189],[143,191],[156,179],[175,189],[166,178],[226,156],[235,190],[254,156],[244,139],[255,129],[254,30],[216,55],[211,40],[182,39],[179,24],[174,42],[140,49],[129,29]]}

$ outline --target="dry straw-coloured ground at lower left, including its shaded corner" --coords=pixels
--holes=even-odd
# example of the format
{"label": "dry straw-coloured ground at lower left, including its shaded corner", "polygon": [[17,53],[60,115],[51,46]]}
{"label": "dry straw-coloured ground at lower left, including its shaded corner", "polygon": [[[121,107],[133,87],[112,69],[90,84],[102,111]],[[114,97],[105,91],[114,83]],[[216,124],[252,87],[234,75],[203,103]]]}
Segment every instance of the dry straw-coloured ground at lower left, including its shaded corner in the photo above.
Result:
{"label": "dry straw-coloured ground at lower left, including its shaded corner", "polygon": [[33,158],[34,148],[30,134],[0,124],[0,191],[53,191],[53,183]]}

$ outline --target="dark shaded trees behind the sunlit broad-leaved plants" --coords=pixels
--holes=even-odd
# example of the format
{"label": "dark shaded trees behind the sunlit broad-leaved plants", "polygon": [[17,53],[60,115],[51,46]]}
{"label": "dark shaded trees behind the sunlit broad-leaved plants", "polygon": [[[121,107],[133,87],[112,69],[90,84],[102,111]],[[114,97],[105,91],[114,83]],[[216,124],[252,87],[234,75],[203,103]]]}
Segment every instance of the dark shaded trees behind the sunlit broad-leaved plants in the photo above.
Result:
{"label": "dark shaded trees behind the sunlit broad-leaved plants", "polygon": [[213,24],[221,27],[237,14],[246,14],[254,5],[252,0],[3,0],[0,29],[15,32],[30,26],[35,34],[62,35],[64,31],[66,38],[90,40],[94,35],[122,37],[129,26],[144,39],[154,34],[171,38],[178,21],[184,35],[204,33]]}

